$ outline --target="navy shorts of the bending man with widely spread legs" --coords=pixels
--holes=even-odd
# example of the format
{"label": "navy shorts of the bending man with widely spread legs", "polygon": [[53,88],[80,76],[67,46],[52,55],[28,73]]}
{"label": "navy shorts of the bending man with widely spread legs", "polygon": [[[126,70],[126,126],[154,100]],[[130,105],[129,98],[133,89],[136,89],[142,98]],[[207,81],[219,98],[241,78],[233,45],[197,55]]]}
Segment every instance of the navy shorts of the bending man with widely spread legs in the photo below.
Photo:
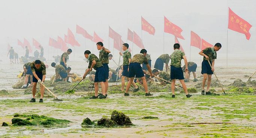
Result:
{"label": "navy shorts of the bending man with widely spread legs", "polygon": [[142,71],[142,66],[140,66],[140,63],[130,63],[129,78],[131,77],[136,77],[136,78],[144,77],[144,72]]}

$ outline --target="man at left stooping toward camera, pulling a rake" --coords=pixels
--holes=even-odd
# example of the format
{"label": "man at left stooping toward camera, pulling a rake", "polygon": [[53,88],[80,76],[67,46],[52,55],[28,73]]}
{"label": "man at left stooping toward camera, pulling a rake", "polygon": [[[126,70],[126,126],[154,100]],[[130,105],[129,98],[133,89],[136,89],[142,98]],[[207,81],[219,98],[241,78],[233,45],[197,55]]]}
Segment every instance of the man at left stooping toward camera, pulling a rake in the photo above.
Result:
{"label": "man at left stooping toward camera, pulling a rake", "polygon": [[30,100],[30,102],[36,102],[36,84],[40,84],[40,94],[41,98],[39,102],[43,102],[44,98],[44,80],[46,75],[46,68],[43,62],[40,60],[35,60],[30,64],[31,71],[33,73],[33,86],[32,86],[32,95],[33,98]]}

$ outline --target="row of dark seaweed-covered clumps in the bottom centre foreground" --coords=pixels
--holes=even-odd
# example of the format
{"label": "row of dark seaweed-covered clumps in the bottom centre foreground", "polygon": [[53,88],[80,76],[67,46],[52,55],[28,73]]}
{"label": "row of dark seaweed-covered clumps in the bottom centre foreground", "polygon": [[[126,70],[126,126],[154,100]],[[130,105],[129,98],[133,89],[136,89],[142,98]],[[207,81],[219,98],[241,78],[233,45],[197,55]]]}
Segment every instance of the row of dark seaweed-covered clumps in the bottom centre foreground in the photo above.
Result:
{"label": "row of dark seaweed-covered clumps in the bottom centre foreground", "polygon": [[122,127],[132,126],[130,118],[120,111],[114,110],[111,114],[111,118],[102,117],[100,120],[91,121],[89,118],[85,118],[82,127]]}

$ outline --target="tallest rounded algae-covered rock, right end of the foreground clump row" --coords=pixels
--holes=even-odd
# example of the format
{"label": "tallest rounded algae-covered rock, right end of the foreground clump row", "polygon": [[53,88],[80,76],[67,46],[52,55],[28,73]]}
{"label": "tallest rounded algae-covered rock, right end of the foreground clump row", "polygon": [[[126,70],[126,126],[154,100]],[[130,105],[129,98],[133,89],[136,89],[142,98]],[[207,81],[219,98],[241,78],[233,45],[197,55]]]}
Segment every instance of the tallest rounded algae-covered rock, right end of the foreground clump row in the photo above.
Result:
{"label": "tallest rounded algae-covered rock, right end of the foreground clump row", "polygon": [[120,126],[133,125],[130,118],[120,111],[114,110],[111,114],[111,120],[115,121]]}

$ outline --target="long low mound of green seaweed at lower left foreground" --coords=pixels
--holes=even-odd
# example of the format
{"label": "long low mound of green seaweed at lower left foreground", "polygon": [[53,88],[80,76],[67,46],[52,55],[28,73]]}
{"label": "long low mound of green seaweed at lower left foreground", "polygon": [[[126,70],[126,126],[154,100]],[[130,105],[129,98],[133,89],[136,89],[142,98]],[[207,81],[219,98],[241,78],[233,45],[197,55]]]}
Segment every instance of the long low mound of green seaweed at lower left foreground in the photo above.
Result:
{"label": "long low mound of green seaweed at lower left foreground", "polygon": [[[37,114],[15,114],[15,118],[12,118],[12,125],[14,126],[45,126],[45,127],[56,127],[56,126],[68,126],[71,121],[56,119],[47,117],[44,115]],[[19,117],[19,118],[17,118]]]}

